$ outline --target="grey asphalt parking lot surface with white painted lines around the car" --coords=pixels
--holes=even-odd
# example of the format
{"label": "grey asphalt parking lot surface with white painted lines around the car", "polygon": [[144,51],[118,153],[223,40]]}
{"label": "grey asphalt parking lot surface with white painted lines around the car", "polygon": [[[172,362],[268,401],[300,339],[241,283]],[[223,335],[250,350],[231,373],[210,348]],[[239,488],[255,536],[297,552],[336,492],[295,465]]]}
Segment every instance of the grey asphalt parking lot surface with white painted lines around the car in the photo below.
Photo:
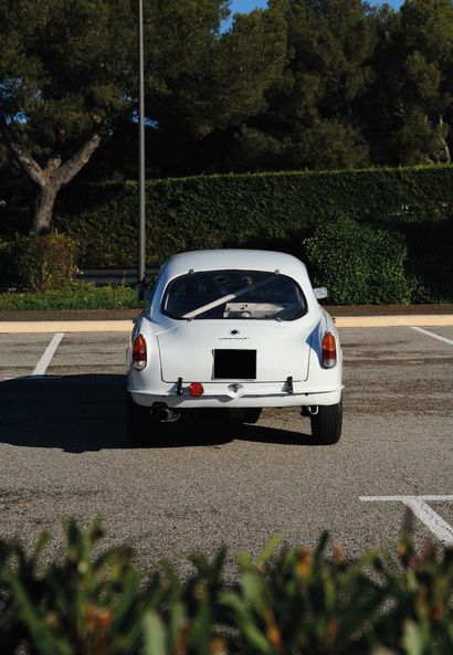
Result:
{"label": "grey asphalt parking lot surface with white painted lines around the car", "polygon": [[[145,570],[229,547],[257,554],[328,530],[348,556],[394,546],[411,507],[417,540],[453,543],[453,327],[340,327],[344,430],[315,446],[296,409],[256,425],[178,422],[149,448],[125,429],[126,331],[0,334],[2,538],[63,542],[62,521],[101,516],[105,546]],[[415,329],[417,328],[417,329]]]}

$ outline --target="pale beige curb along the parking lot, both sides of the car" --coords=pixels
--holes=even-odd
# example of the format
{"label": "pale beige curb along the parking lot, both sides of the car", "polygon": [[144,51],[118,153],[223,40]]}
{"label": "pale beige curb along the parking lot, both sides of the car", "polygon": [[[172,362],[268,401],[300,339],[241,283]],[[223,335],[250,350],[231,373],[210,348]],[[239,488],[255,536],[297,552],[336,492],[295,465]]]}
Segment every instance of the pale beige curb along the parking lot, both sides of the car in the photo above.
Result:
{"label": "pale beige curb along the parking lot, both sides of the car", "polygon": [[[0,334],[35,332],[129,332],[133,319],[128,320],[8,320],[0,323]],[[411,314],[396,316],[338,316],[338,328],[364,327],[449,327],[453,314]]]}

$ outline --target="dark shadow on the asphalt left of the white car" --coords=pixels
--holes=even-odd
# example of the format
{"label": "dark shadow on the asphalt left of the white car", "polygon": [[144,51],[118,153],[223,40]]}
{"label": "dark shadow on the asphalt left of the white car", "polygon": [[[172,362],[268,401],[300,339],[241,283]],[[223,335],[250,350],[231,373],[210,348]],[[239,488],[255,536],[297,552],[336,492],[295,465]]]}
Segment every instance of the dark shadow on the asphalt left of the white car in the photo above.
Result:
{"label": "dark shadow on the asphalt left of the white car", "polygon": [[15,378],[0,383],[0,442],[71,453],[127,447],[125,376]]}

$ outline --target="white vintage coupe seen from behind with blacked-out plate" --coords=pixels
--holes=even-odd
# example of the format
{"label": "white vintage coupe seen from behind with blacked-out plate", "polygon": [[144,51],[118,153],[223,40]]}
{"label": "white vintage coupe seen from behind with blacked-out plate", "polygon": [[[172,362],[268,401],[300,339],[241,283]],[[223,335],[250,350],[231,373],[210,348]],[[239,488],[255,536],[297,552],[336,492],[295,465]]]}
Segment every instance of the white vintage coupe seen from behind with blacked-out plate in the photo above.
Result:
{"label": "white vintage coupe seen from behind with blacked-out plate", "polygon": [[160,267],[127,349],[129,433],[158,421],[228,410],[301,406],[316,443],[341,432],[343,358],[331,316],[296,257],[260,250],[177,254]]}

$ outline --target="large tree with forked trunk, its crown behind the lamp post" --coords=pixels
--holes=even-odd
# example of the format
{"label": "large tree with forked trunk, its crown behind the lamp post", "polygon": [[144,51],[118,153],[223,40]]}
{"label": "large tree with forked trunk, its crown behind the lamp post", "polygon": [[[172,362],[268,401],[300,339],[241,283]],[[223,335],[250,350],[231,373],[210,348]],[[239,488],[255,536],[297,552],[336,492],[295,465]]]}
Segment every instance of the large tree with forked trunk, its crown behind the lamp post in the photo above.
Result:
{"label": "large tree with forked trunk, its crown behind the lamp post", "polygon": [[[145,0],[148,131],[160,142],[201,144],[265,109],[284,21],[256,11],[224,33],[228,14],[228,0]],[[0,0],[0,134],[38,186],[34,232],[49,231],[60,189],[115,127],[130,134],[136,21],[136,0]]]}

